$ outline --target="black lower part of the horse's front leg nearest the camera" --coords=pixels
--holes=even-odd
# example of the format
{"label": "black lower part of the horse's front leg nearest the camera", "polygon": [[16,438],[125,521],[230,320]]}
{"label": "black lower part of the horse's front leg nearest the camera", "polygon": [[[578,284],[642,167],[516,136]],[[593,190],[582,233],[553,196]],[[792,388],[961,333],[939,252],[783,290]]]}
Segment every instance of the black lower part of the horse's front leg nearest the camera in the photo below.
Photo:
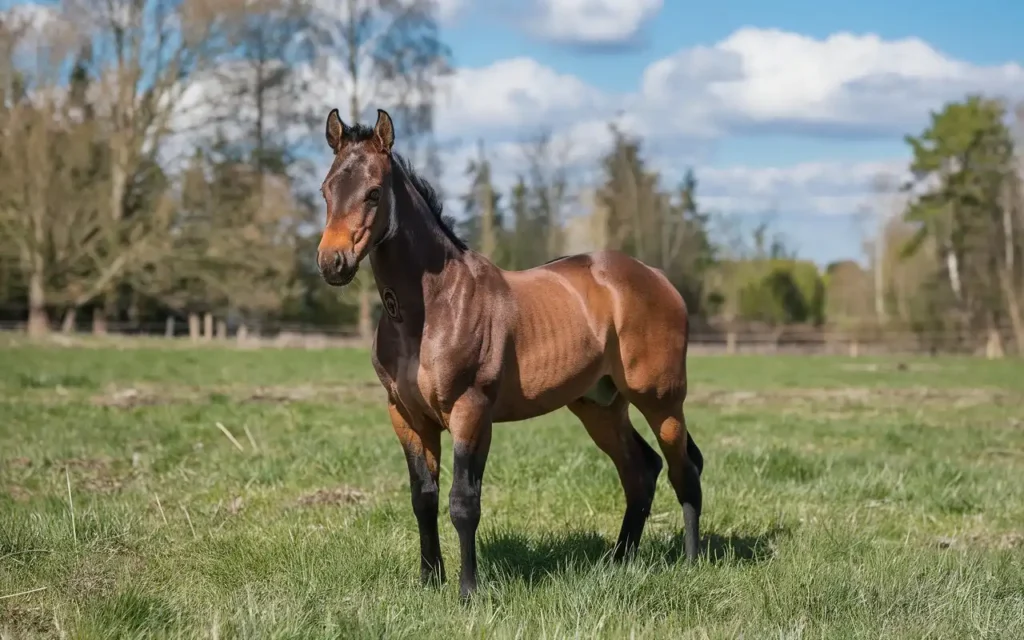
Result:
{"label": "black lower part of the horse's front leg nearest the camera", "polygon": [[459,534],[462,572],[459,594],[469,597],[476,591],[476,527],[480,523],[480,489],[486,452],[473,451],[457,442],[452,465],[452,494],[449,507],[452,524]]}

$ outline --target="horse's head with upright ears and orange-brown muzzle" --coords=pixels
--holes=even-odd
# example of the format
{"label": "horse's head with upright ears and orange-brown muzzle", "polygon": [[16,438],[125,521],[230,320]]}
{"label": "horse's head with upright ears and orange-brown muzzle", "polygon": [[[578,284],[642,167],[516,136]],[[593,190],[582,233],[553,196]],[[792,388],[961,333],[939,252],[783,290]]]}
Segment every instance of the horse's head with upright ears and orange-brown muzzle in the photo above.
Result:
{"label": "horse's head with upright ears and orange-brown muzzle", "polygon": [[394,224],[394,125],[387,112],[377,110],[373,130],[349,127],[335,109],[327,117],[327,143],[334,152],[334,163],[321,186],[327,224],[316,249],[316,265],[324,282],[343,287]]}

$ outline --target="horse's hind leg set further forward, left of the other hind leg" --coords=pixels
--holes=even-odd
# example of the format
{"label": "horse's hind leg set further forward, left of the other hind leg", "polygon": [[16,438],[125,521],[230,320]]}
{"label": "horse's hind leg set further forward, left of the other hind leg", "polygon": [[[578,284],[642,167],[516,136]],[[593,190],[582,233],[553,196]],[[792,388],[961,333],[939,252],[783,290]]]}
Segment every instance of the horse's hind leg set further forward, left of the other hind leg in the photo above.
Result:
{"label": "horse's hind leg set further forward, left of the other hind leg", "polygon": [[626,494],[626,514],[615,543],[614,559],[636,550],[654,501],[662,459],[630,424],[629,403],[622,396],[609,407],[581,398],[569,411],[583,422],[587,433],[612,462]]}

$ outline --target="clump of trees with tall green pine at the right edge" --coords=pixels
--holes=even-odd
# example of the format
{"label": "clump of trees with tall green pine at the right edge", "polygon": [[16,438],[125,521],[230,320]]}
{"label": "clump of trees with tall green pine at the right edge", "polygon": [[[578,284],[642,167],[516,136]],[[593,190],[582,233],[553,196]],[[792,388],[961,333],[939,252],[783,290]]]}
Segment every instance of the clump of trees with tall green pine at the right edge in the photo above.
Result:
{"label": "clump of trees with tall green pine at the right edge", "polygon": [[869,265],[830,265],[826,316],[932,349],[1024,352],[1024,105],[968,95],[904,139],[909,177],[877,180]]}

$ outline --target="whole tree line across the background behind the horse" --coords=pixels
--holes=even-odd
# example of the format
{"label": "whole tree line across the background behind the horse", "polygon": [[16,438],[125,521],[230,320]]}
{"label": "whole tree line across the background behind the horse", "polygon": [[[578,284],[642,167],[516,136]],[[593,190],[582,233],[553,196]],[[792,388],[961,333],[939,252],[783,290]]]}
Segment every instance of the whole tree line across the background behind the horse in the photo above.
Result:
{"label": "whole tree line across the background behind the horse", "polygon": [[[42,334],[111,324],[225,335],[289,325],[371,335],[369,269],[343,292],[312,256],[323,115],[384,106],[440,187],[434,114],[452,56],[430,0],[67,0],[0,16],[0,319]],[[331,90],[328,90],[328,89]],[[343,96],[344,104],[329,103]],[[609,125],[596,179],[527,132],[509,188],[482,143],[450,223],[500,266],[626,251],[660,268],[696,327],[1024,345],[1024,111],[980,95],[908,135],[880,176],[866,265],[819,269],[767,224],[743,232],[670,184]],[[885,178],[885,179],[884,179]],[[935,338],[935,336],[939,336]]]}

